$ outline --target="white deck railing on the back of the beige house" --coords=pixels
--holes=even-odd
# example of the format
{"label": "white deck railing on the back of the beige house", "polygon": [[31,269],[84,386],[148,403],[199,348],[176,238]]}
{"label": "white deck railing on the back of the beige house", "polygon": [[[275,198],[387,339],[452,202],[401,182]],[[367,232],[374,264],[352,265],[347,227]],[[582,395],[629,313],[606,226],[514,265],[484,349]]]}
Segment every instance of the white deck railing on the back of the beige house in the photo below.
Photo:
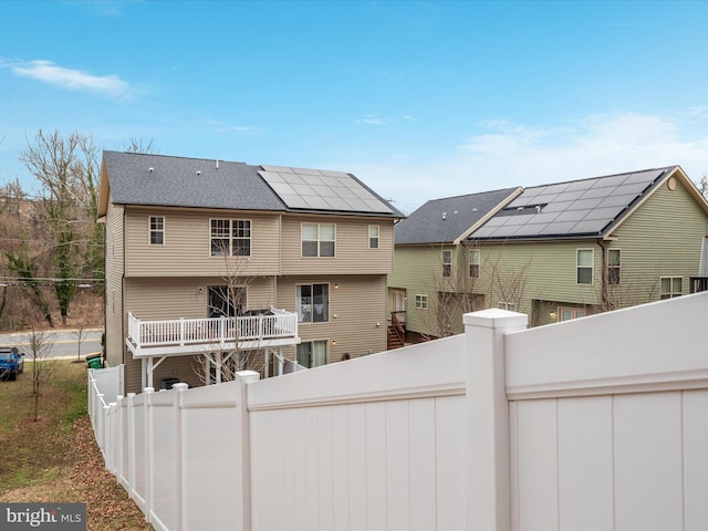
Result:
{"label": "white deck railing on the back of the beige house", "polygon": [[143,321],[128,313],[128,339],[140,347],[233,343],[237,341],[295,337],[298,314],[271,309],[269,314],[240,317]]}

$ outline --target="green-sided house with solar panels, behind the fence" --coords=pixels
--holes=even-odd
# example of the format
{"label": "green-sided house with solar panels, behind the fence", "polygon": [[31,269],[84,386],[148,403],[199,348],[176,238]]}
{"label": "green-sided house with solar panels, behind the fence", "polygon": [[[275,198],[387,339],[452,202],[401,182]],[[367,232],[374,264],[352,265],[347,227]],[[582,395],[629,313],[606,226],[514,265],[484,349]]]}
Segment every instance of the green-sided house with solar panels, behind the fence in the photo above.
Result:
{"label": "green-sided house with solar panels, behind the fence", "polygon": [[465,311],[542,325],[702,291],[707,228],[679,166],[429,201],[396,226],[391,306],[415,340],[460,333]]}

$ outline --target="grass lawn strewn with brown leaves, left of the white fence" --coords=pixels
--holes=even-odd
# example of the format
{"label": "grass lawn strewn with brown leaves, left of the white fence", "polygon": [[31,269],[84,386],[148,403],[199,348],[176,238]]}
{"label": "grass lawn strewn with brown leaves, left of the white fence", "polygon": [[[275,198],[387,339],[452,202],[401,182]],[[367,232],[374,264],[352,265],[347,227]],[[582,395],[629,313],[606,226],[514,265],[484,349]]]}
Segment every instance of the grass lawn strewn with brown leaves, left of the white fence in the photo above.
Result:
{"label": "grass lawn strewn with brown leaves, left of the white fence", "polygon": [[86,364],[51,362],[34,421],[32,364],[0,382],[0,502],[85,502],[87,529],[152,530],[104,469],[86,412]]}

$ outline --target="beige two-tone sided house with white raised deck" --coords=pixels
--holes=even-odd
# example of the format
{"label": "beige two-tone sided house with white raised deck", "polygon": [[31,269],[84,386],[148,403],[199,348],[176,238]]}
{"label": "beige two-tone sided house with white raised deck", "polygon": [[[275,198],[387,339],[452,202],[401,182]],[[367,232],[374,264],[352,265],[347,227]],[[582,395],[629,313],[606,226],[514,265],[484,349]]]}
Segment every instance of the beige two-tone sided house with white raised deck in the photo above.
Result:
{"label": "beige two-tone sided house with white raised deck", "polygon": [[126,393],[386,348],[403,215],[351,174],[104,152],[98,215]]}

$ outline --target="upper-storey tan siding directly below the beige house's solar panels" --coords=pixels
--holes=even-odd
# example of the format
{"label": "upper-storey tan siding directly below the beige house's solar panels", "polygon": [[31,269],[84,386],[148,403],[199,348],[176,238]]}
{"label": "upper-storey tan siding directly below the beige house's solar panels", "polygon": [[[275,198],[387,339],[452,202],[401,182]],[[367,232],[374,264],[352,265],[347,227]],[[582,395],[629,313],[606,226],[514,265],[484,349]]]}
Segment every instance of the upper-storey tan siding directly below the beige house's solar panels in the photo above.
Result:
{"label": "upper-storey tan siding directly below the beige house's solar panels", "polygon": [[[302,257],[302,223],[335,223],[333,258]],[[379,226],[378,249],[368,248],[368,226]],[[387,274],[393,270],[393,220],[283,216],[282,274]]]}

